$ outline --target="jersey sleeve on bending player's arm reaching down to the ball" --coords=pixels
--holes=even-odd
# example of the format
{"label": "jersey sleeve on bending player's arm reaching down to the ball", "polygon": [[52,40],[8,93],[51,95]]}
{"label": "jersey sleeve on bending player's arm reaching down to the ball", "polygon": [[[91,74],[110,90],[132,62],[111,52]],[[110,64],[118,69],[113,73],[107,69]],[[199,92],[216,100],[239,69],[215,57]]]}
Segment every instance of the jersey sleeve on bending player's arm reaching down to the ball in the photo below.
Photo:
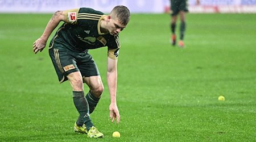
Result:
{"label": "jersey sleeve on bending player's arm reaching down to the ball", "polygon": [[118,35],[114,36],[114,42],[110,45],[108,45],[108,57],[111,59],[117,60],[119,55],[119,49],[120,49],[120,41]]}

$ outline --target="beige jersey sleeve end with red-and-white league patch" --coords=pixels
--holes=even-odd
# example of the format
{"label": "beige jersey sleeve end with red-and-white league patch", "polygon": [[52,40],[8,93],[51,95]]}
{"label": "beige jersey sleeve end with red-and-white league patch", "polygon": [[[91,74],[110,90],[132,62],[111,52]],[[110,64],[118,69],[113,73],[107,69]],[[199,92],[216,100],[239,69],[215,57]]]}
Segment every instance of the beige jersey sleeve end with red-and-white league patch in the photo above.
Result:
{"label": "beige jersey sleeve end with red-and-white league patch", "polygon": [[79,13],[79,9],[65,10],[64,11],[65,22],[76,24],[78,13]]}

